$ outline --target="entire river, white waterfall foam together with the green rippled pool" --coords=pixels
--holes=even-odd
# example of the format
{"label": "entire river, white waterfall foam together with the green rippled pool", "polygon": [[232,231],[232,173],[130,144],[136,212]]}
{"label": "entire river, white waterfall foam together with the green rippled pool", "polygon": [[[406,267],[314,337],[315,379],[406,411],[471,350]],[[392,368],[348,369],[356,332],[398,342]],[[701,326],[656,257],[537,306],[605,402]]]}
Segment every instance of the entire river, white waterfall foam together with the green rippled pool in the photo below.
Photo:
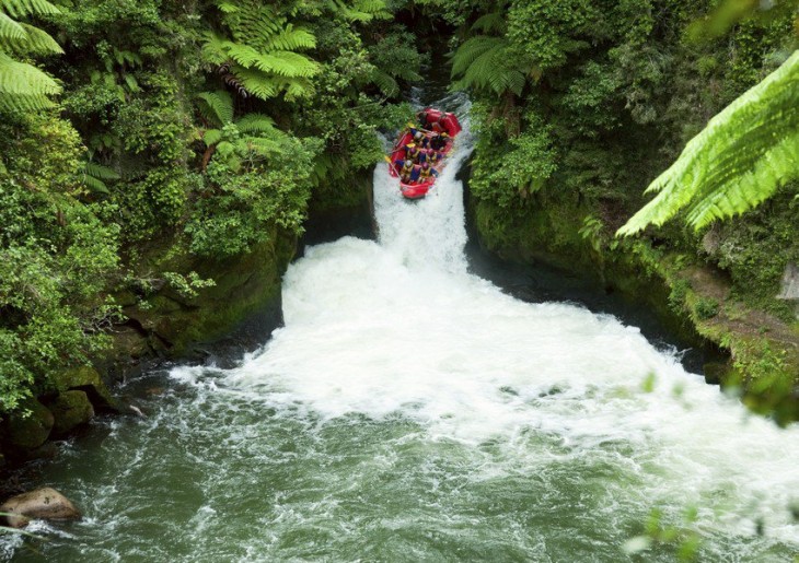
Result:
{"label": "entire river, white waterfall foam together with the green rippled pool", "polygon": [[[470,151],[465,131],[414,203],[378,166],[378,241],[309,248],[285,327],[234,367],[131,382],[147,418],[100,420],[42,470],[85,517],[0,556],[665,562],[698,541],[699,561],[795,561],[799,427],[611,315],[470,273]],[[674,539],[636,552],[656,514]]]}

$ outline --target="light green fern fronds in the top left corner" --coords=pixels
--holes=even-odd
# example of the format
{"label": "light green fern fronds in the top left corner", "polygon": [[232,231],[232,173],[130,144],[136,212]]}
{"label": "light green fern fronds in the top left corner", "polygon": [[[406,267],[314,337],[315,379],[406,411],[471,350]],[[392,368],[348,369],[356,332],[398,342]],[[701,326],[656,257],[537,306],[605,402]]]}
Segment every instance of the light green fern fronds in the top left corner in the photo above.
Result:
{"label": "light green fern fronds in the top left corner", "polygon": [[15,21],[27,15],[56,14],[46,0],[0,0],[0,112],[32,112],[53,105],[47,96],[60,85],[45,72],[14,56],[62,52],[47,33]]}

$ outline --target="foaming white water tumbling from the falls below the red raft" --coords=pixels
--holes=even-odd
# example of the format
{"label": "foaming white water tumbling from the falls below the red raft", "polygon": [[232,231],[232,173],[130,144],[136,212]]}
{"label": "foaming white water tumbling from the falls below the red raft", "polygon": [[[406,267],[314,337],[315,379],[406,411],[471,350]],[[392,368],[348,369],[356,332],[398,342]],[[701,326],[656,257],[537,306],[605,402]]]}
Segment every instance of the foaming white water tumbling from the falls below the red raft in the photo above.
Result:
{"label": "foaming white water tumbling from the falls below the red raft", "polygon": [[467,273],[455,173],[470,150],[465,131],[418,202],[378,166],[379,242],[310,249],[285,279],[286,327],[225,384],[327,421],[399,417],[419,424],[415,439],[489,444],[470,479],[574,464],[572,484],[604,481],[611,511],[625,496],[696,506],[700,535],[752,537],[760,523],[799,549],[799,429],[748,415],[612,316],[522,303]]}

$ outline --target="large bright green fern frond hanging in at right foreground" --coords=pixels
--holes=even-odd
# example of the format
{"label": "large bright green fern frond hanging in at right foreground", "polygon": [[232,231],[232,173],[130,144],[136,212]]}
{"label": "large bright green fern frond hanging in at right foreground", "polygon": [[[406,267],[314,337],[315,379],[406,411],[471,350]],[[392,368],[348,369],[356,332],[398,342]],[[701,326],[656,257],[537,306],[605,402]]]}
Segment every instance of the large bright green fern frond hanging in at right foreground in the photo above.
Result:
{"label": "large bright green fern frond hanging in at right foreground", "polygon": [[743,213],[799,177],[799,51],[710,119],[646,192],[657,197],[619,235],[661,225],[685,209],[698,230]]}

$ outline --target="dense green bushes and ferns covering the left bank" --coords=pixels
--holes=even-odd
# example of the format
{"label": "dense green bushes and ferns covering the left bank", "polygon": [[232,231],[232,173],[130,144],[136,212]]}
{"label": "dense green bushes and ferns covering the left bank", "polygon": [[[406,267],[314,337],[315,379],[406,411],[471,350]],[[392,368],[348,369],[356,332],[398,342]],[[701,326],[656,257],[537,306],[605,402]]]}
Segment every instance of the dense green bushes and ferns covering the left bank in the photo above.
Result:
{"label": "dense green bushes and ferns covering the left bank", "polygon": [[105,347],[119,295],[212,283],[142,256],[242,256],[352,196],[420,78],[395,9],[0,1],[0,413]]}

